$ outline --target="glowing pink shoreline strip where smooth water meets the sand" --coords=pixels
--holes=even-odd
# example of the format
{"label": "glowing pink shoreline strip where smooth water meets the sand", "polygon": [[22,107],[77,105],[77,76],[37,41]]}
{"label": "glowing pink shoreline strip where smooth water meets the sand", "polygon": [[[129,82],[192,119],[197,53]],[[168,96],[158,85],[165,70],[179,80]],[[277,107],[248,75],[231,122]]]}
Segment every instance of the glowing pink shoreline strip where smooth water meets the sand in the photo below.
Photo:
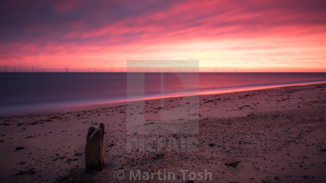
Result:
{"label": "glowing pink shoreline strip where smooth water meets the sand", "polygon": [[[302,83],[302,84],[300,84]],[[266,89],[276,89],[276,88],[282,88],[282,87],[290,87],[290,86],[302,86],[302,85],[314,85],[314,84],[323,84],[326,82],[296,82],[293,83],[293,85],[268,85],[266,87],[254,87],[254,88],[243,88],[243,89],[235,89],[235,90],[228,90],[228,91],[210,91],[210,92],[202,92],[199,93],[200,96],[204,95],[213,95],[213,94],[226,94],[226,93],[235,93],[235,92],[242,92],[242,91],[254,91],[254,90],[266,90]],[[180,96],[172,96],[172,97],[166,97],[166,98],[178,98]],[[159,99],[157,97],[148,98],[145,100],[155,100]],[[132,100],[130,102],[138,102],[143,100]],[[128,101],[129,102],[129,101]],[[79,110],[91,110],[95,108],[100,107],[110,107],[110,106],[120,106],[120,105],[126,105],[126,101],[112,101],[112,102],[105,102],[101,104],[80,104],[80,105],[70,105],[70,106],[61,106],[61,107],[50,107],[46,109],[35,109],[35,110],[24,110],[24,111],[15,111],[15,112],[1,112],[0,118],[5,117],[13,117],[13,116],[22,116],[22,115],[35,115],[35,114],[51,114],[51,113],[58,113],[60,111],[69,111],[69,112],[78,112]]]}

